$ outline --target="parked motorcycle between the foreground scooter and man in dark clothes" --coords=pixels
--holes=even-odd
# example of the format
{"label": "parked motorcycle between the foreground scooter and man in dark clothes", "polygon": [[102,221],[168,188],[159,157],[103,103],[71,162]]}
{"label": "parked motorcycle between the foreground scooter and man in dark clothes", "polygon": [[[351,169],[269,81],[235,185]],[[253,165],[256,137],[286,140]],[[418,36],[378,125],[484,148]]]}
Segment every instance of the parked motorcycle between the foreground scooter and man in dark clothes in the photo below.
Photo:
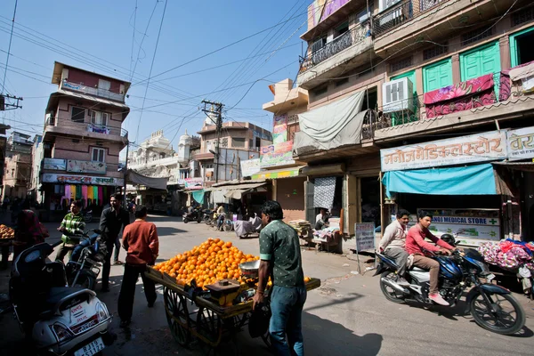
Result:
{"label": "parked motorcycle between the foreground scooter and man in dark clothes", "polygon": [[[94,232],[94,234],[89,236],[91,232]],[[82,239],[96,238],[94,243],[82,250],[77,261],[70,260],[65,266],[70,287],[94,289],[102,263],[104,263],[106,254],[108,253],[106,244],[98,238],[100,234],[101,231],[98,229],[85,232]]]}

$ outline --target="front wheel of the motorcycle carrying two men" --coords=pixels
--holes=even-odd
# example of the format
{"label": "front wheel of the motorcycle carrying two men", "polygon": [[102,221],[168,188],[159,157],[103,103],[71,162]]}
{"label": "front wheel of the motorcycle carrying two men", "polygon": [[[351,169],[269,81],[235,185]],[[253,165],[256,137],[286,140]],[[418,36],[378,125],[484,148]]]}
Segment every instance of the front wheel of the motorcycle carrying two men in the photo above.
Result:
{"label": "front wheel of the motorcycle carrying two men", "polygon": [[522,329],[525,325],[525,312],[513,295],[498,295],[488,292],[485,294],[493,308],[490,308],[480,293],[473,296],[469,305],[469,312],[481,328],[502,335],[512,335]]}

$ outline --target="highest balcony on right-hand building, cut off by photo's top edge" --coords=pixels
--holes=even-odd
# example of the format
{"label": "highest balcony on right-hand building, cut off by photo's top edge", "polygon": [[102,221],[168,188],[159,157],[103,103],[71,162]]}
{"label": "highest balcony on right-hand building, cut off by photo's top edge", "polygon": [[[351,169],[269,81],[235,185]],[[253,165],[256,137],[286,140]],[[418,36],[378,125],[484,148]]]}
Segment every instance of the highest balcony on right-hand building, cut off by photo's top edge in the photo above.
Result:
{"label": "highest balcony on right-hand building, cut off by photo's top edge", "polygon": [[[514,8],[529,3],[519,0]],[[375,16],[375,52],[387,56],[405,50],[407,44],[457,36],[457,28],[480,28],[478,24],[499,18],[513,4],[514,0],[402,0]]]}

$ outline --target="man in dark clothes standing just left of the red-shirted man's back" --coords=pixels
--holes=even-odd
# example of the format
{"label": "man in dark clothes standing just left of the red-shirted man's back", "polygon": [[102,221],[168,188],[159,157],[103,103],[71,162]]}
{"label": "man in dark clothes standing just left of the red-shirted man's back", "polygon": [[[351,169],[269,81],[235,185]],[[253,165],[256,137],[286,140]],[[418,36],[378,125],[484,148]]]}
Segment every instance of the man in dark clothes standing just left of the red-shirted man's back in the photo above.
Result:
{"label": "man in dark clothes standing just left of the red-shirted man's back", "polygon": [[108,254],[104,260],[102,268],[102,292],[109,292],[109,271],[111,270],[111,253],[115,246],[115,254],[113,264],[123,264],[118,260],[118,253],[120,251],[120,242],[118,233],[121,228],[125,228],[130,223],[130,214],[120,205],[121,195],[114,194],[109,199],[109,208],[102,210],[100,230],[102,231],[102,239],[108,247]]}

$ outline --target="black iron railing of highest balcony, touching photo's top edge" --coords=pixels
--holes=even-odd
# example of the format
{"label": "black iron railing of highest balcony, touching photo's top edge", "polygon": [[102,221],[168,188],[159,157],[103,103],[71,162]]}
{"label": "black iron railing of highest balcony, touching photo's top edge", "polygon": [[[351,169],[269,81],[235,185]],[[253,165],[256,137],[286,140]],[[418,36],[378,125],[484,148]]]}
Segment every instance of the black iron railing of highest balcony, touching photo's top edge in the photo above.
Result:
{"label": "black iron railing of highest balcony, touching photo's top edge", "polygon": [[404,0],[375,16],[375,35],[381,36],[449,0]]}

